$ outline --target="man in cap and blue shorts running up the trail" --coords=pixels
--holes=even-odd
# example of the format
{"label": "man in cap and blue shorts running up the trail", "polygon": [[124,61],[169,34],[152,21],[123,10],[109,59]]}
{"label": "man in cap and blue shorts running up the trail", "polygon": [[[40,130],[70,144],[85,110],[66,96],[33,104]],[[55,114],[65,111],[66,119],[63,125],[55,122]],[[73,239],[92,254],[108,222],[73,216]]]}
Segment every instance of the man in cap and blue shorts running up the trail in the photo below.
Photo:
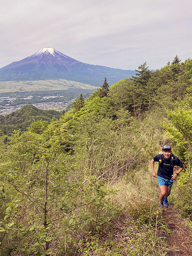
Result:
{"label": "man in cap and blue shorts running up the trail", "polygon": [[[160,187],[160,208],[163,212],[163,206],[169,206],[167,198],[170,195],[173,180],[177,178],[185,166],[178,157],[172,154],[170,145],[163,145],[162,152],[163,154],[158,154],[151,160],[151,167],[153,177],[158,179]],[[154,162],[159,162],[157,174],[154,171]],[[175,174],[173,173],[174,166],[180,166]]]}

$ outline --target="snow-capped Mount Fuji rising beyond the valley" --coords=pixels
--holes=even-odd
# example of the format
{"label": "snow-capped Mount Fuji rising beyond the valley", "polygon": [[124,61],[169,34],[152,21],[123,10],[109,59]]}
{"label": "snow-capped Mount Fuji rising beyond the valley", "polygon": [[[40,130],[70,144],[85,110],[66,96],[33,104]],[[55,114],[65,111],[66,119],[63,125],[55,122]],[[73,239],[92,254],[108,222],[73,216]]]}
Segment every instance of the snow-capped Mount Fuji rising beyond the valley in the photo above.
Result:
{"label": "snow-capped Mount Fuji rising beyond the valley", "polygon": [[109,84],[114,84],[134,74],[134,70],[83,63],[48,47],[0,68],[0,81],[67,79],[100,86],[105,77]]}

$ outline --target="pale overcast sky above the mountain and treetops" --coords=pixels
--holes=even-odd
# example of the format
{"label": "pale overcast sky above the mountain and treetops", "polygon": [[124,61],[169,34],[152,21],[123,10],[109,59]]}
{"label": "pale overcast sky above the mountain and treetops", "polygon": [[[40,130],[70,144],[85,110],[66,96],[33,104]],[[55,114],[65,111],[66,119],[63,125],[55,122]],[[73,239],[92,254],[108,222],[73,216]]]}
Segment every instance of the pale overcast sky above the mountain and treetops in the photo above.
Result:
{"label": "pale overcast sky above the mountain and treetops", "polygon": [[76,60],[158,69],[192,58],[191,0],[0,0],[0,67],[44,47]]}

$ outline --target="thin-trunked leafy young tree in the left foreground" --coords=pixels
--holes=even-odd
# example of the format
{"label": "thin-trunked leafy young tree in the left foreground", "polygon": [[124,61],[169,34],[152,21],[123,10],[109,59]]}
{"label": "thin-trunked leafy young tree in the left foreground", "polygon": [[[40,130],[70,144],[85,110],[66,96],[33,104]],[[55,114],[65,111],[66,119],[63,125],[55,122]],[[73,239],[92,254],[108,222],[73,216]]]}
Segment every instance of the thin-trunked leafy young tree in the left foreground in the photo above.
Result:
{"label": "thin-trunked leafy young tree in the left foreground", "polygon": [[[22,136],[25,137],[25,133]],[[103,188],[99,178],[88,175],[82,179],[82,170],[73,176],[74,166],[67,168],[58,142],[52,145],[42,142],[35,149],[32,165],[23,169],[22,175],[14,168],[14,162],[13,170],[0,173],[0,183],[10,187],[9,201],[17,199],[19,204],[18,208],[17,204],[9,203],[6,211],[4,209],[4,218],[0,221],[2,252],[6,248],[8,252],[14,250],[22,255],[49,255],[55,243],[66,251],[68,245],[63,246],[62,241],[67,239],[67,243],[73,244],[67,236],[76,232],[79,225],[82,230],[90,222],[89,226],[93,225],[96,230],[110,220],[102,213],[103,207],[110,210],[109,204],[105,204],[109,191]]]}

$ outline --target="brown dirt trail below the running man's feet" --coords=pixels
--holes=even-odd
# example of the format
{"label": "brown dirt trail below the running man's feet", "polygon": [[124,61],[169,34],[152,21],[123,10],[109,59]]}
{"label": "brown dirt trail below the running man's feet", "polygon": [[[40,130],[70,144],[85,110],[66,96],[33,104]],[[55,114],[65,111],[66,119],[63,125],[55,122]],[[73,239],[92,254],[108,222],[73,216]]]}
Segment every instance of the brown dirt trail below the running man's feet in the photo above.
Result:
{"label": "brown dirt trail below the running man's feet", "polygon": [[172,206],[166,208],[163,215],[171,230],[167,241],[170,251],[166,256],[192,256],[192,233],[184,224],[184,220]]}

